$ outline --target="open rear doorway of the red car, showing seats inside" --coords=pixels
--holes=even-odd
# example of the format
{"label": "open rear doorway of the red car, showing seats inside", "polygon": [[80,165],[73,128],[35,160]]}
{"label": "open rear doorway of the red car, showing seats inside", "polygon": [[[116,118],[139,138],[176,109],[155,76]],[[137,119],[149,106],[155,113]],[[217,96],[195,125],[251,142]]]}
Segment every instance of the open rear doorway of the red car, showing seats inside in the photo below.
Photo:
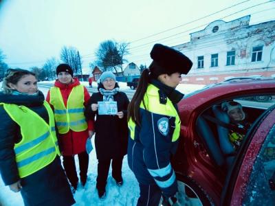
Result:
{"label": "open rear doorway of the red car, showing seats inside", "polygon": [[[256,119],[274,104],[275,94],[245,95],[218,100],[201,113],[197,121],[198,135],[209,157],[224,170],[225,175]],[[243,117],[233,121],[230,113],[238,108]]]}

